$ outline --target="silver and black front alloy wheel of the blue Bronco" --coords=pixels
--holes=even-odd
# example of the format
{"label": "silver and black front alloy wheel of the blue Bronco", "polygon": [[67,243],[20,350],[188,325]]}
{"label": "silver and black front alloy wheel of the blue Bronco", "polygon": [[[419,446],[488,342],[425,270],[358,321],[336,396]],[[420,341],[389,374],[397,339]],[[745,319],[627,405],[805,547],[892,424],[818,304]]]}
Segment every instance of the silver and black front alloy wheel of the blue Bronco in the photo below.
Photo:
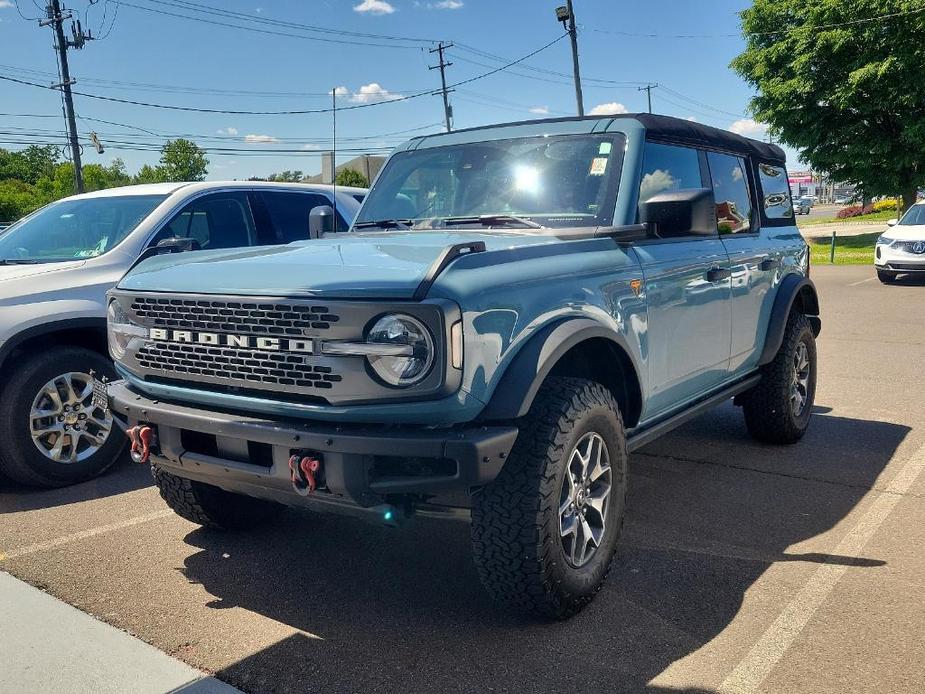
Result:
{"label": "silver and black front alloy wheel of the blue Bronco", "polygon": [[587,564],[604,539],[612,483],[607,445],[588,432],[569,454],[559,494],[559,536],[575,568]]}

